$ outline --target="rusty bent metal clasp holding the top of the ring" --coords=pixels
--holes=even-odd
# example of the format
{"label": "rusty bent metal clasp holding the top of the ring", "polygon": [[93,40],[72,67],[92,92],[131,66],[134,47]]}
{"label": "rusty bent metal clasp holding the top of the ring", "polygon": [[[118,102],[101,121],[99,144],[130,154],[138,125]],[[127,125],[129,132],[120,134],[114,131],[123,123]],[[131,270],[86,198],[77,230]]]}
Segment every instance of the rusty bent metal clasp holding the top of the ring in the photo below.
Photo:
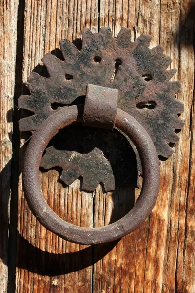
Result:
{"label": "rusty bent metal clasp holding the top of the ring", "polygon": [[88,84],[82,125],[112,130],[115,126],[117,105],[117,89]]}

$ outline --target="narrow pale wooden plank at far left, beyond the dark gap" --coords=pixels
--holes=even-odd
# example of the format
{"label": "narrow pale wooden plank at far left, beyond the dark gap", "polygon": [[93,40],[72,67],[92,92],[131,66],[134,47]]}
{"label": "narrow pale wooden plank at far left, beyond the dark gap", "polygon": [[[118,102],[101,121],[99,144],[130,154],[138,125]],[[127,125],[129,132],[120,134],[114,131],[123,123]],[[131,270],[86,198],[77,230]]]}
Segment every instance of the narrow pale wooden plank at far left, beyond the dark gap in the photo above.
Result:
{"label": "narrow pale wooden plank at far left, beyond the dark gap", "polygon": [[0,293],[7,292],[18,1],[0,1]]}

